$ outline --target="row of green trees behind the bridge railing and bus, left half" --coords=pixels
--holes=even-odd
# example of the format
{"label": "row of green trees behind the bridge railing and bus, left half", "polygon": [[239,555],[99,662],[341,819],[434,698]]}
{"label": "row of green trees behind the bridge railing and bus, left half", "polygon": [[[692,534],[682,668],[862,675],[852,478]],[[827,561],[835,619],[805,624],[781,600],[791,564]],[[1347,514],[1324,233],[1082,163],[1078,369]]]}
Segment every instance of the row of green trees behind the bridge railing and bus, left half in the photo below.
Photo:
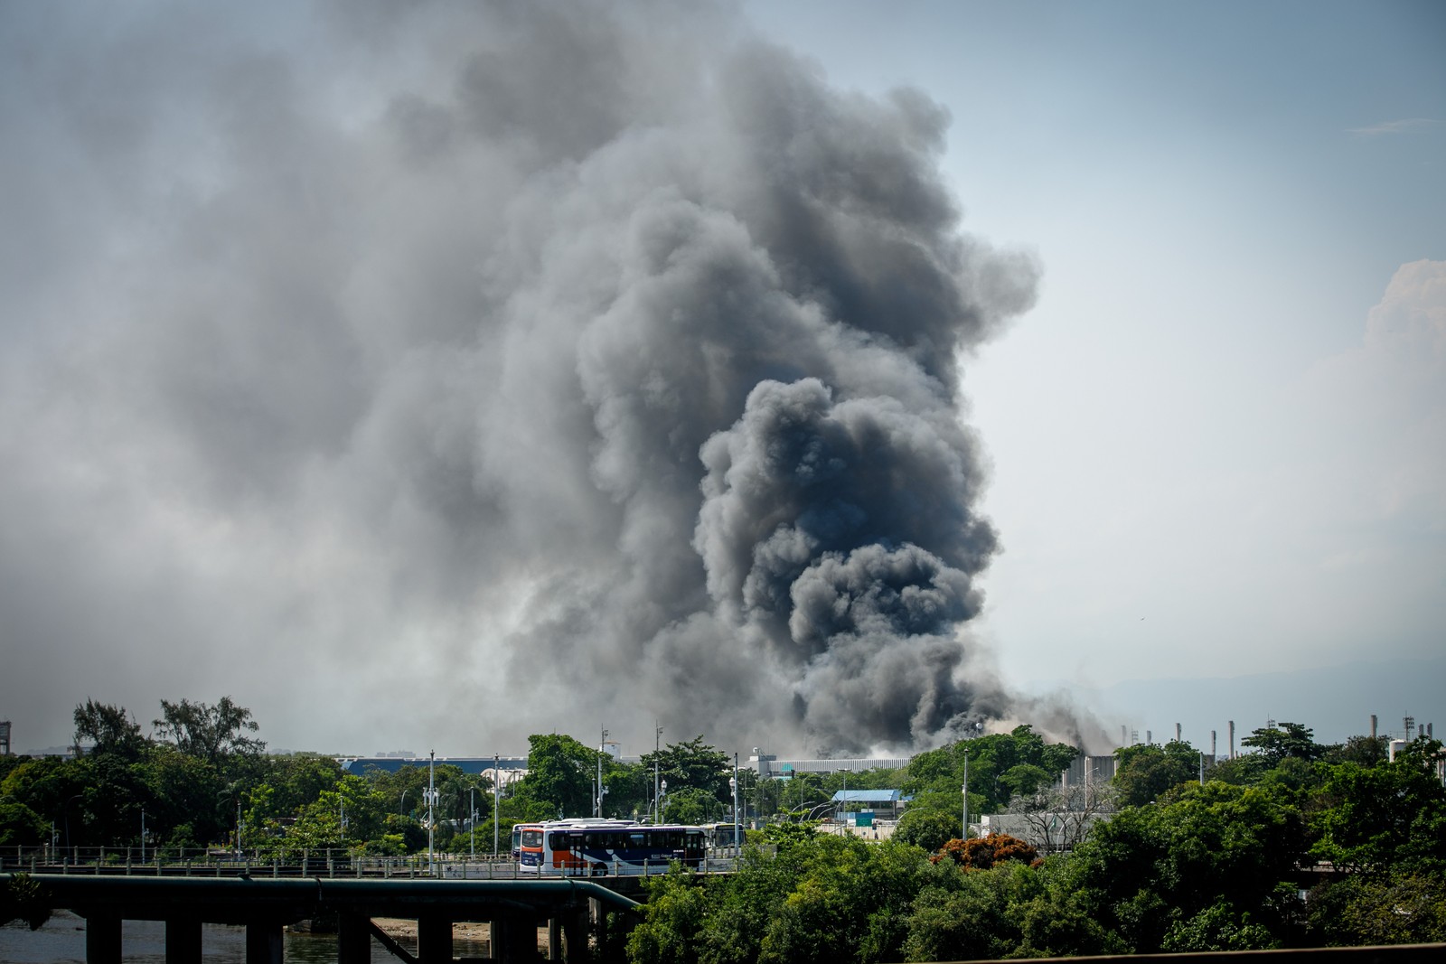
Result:
{"label": "row of green trees behind the bridge railing and bus, left half", "polygon": [[[648,817],[661,804],[664,819],[701,824],[722,819],[733,793],[732,759],[701,736],[622,763],[574,737],[535,734],[526,775],[493,799],[492,779],[454,765],[351,773],[330,756],[269,754],[250,710],[230,697],[162,700],[149,733],[123,707],[94,700],[75,707],[74,721],[69,757],[0,759],[0,845],[399,856],[425,851],[431,831],[435,848],[490,851],[495,840],[509,847],[515,824],[587,817],[597,798],[609,817]],[[739,792],[769,805],[745,773]]]}

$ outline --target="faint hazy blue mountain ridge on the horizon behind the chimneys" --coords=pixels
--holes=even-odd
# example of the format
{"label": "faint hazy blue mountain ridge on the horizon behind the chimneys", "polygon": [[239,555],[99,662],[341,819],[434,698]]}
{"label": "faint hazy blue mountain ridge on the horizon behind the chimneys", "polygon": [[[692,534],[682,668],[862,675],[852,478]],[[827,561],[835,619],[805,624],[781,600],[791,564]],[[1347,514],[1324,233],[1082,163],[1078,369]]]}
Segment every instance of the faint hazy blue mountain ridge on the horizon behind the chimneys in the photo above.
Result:
{"label": "faint hazy blue mountain ridge on the horizon behind the chimneys", "polygon": [[[1219,753],[1229,749],[1231,720],[1235,721],[1236,749],[1241,737],[1270,720],[1301,723],[1320,743],[1340,743],[1369,733],[1372,713],[1382,736],[1401,736],[1407,715],[1419,726],[1446,726],[1446,658],[1381,659],[1229,678],[1129,679],[1100,688],[1063,684],[1061,688],[1093,710],[1115,741],[1119,727],[1125,726],[1138,731],[1141,741],[1148,730],[1155,743],[1164,743],[1174,739],[1178,723],[1183,739],[1205,752],[1210,749],[1210,730],[1215,730]],[[1446,739],[1446,730],[1434,730],[1434,736]]]}

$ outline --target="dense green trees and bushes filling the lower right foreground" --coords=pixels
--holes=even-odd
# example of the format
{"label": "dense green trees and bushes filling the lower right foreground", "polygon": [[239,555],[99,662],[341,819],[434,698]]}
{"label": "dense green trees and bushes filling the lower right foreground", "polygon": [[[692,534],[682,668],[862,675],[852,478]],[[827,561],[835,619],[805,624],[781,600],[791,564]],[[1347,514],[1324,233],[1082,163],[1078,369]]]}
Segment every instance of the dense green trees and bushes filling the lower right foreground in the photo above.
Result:
{"label": "dense green trees and bushes filling the lower right foreground", "polygon": [[[1034,860],[1002,835],[959,840],[963,752],[970,806],[976,779],[979,805],[998,805],[1028,792],[1035,778],[1019,767],[1069,765],[1067,747],[1047,753],[1037,740],[1021,727],[917,757],[908,779],[924,806],[889,841],[771,831],[750,835],[729,879],[680,870],[652,882],[630,958],[936,961],[1446,939],[1436,740],[1388,763],[1378,740],[1320,746],[1283,724],[1257,730],[1246,743],[1257,753],[1206,767],[1203,782],[1187,743],[1129,747],[1115,799],[1139,802],[1071,851]],[[943,834],[951,840],[936,843]]]}

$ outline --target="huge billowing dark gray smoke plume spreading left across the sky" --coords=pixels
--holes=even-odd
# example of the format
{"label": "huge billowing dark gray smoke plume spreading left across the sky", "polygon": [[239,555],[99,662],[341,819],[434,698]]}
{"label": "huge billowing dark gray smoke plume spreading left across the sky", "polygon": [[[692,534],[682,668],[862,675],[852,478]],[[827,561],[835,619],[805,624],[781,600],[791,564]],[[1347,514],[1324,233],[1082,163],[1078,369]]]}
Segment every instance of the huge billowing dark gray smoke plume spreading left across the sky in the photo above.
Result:
{"label": "huge billowing dark gray smoke plume spreading left across the sky", "polygon": [[272,13],[7,10],[51,51],[6,56],[7,191],[84,234],[6,269],[61,331],[7,335],[40,374],[3,396],[6,522],[56,580],[13,624],[191,653],[137,705],[214,698],[243,645],[509,733],[847,750],[979,711],[959,363],[1037,272],[959,231],[940,107],[730,7]]}

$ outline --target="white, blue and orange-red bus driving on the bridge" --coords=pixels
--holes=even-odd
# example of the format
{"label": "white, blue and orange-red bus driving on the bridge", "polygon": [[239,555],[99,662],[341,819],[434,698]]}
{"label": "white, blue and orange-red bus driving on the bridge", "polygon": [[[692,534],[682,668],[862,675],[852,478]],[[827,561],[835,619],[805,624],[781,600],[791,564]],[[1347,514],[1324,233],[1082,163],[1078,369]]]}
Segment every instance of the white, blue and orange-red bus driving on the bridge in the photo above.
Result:
{"label": "white, blue and orange-red bus driving on the bridge", "polygon": [[538,874],[667,873],[674,860],[697,867],[707,850],[701,827],[623,819],[523,824],[519,837],[518,869]]}

